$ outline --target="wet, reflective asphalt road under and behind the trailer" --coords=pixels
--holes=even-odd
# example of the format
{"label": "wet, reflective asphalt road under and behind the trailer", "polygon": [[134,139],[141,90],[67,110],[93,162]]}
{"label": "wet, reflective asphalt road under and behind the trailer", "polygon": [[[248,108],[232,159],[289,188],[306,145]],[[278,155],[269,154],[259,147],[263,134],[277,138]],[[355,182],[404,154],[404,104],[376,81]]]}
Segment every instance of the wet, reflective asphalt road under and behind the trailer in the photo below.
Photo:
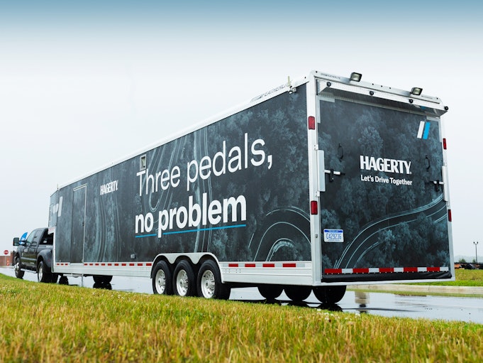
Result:
{"label": "wet, reflective asphalt road under and behind the trailer", "polygon": [[[0,267],[0,273],[15,276],[11,267]],[[26,272],[25,280],[37,281],[35,273]],[[69,284],[74,286],[94,287],[91,277],[68,277]],[[152,294],[151,280],[136,277],[113,277],[109,286],[113,290],[131,291],[133,293]],[[265,301],[257,288],[233,288],[231,300],[247,302]],[[290,300],[282,293],[274,303],[287,305]],[[301,304],[297,304],[301,305]],[[432,320],[450,320],[455,323],[471,322],[483,324],[483,298],[467,298],[459,296],[408,296],[394,293],[347,291],[337,305],[321,306],[311,294],[302,305],[308,308],[330,308],[348,313],[382,315],[387,317],[427,318]]]}

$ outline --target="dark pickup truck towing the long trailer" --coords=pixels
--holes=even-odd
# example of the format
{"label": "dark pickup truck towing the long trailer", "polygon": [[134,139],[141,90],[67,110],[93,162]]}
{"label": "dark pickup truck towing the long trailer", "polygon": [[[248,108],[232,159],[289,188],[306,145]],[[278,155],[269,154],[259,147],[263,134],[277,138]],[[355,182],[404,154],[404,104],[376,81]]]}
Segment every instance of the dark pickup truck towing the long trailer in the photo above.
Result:
{"label": "dark pickup truck towing the long trailer", "polygon": [[37,273],[40,282],[57,282],[57,274],[52,273],[53,234],[48,234],[48,228],[34,229],[25,241],[17,237],[13,246],[17,246],[13,255],[15,276],[23,278],[25,271]]}

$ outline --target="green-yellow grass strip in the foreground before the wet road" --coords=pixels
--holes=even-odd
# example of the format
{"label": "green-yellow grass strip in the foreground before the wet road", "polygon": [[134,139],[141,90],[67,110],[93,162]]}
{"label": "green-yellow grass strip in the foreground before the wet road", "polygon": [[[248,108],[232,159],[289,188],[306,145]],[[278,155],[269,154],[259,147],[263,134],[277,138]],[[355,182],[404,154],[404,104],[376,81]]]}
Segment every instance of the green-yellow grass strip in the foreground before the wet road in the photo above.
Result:
{"label": "green-yellow grass strip in the foreground before the wet road", "polygon": [[483,325],[0,275],[0,362],[481,362]]}

